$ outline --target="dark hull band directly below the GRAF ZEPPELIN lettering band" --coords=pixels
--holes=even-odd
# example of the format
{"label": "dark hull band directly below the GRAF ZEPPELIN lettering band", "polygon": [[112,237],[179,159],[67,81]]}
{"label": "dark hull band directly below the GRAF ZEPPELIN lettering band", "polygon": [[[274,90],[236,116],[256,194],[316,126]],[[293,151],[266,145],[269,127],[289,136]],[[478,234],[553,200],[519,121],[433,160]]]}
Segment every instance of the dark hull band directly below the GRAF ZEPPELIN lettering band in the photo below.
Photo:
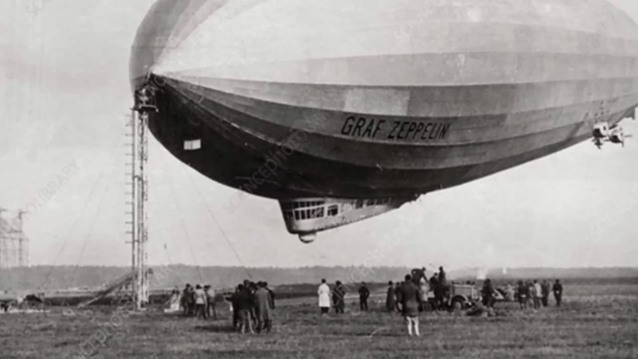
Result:
{"label": "dark hull band directly below the GRAF ZEPPELIN lettering band", "polygon": [[[187,91],[187,90],[182,90]],[[181,95],[179,95],[181,96]],[[194,101],[189,98],[189,101]],[[635,103],[635,102],[634,102]],[[280,126],[260,118],[248,116],[234,111],[202,97],[198,103],[205,111],[215,115],[215,118],[225,121],[230,126],[246,132],[251,137],[258,137],[263,142],[276,146],[283,142],[291,128]],[[627,108],[619,109],[613,114],[592,117],[589,121],[607,120],[621,116]],[[560,111],[558,114],[560,115]],[[213,125],[210,123],[209,125]],[[341,160],[348,163],[358,163],[367,167],[382,167],[384,169],[436,169],[459,165],[475,165],[482,162],[498,160],[500,158],[530,151],[535,147],[547,146],[555,142],[576,135],[574,128],[581,128],[582,119],[563,126],[556,126],[546,130],[531,132],[519,136],[508,136],[496,141],[474,142],[463,145],[449,146],[414,146],[406,144],[370,143],[360,141],[348,141],[338,137],[304,132],[306,138],[299,148],[309,155],[328,160]],[[503,130],[503,134],[507,131]],[[581,129],[582,133],[588,133],[589,128]],[[263,150],[263,148],[261,149]],[[501,155],[498,155],[500,153]]]}

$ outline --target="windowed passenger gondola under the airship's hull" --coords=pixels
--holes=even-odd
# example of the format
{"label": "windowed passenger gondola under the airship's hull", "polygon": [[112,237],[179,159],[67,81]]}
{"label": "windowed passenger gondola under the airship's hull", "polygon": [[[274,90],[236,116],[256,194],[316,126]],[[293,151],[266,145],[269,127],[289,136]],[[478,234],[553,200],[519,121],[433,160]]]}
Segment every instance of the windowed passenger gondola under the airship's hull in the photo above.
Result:
{"label": "windowed passenger gondola under the airship's hull", "polygon": [[298,234],[304,243],[311,243],[317,232],[396,210],[418,197],[295,198],[280,200],[279,206],[288,232]]}

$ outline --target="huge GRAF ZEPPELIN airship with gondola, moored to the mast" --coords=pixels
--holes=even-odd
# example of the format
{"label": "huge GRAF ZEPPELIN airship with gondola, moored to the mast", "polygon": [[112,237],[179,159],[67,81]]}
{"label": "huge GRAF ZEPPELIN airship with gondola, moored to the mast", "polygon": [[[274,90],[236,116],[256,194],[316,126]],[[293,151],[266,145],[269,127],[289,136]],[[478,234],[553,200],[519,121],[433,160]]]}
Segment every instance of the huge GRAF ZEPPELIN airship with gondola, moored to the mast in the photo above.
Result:
{"label": "huge GRAF ZEPPELIN airship with gondola, moored to the mast", "polygon": [[130,83],[172,155],[311,242],[635,118],[638,26],[604,0],[158,0]]}

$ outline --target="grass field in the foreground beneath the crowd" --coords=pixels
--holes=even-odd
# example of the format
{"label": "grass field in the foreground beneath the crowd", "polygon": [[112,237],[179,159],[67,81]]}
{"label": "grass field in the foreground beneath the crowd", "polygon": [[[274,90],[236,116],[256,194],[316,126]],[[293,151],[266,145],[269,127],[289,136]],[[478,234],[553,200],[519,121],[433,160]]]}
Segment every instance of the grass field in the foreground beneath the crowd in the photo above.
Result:
{"label": "grass field in the foreground beneath the crowd", "polygon": [[3,314],[0,358],[82,358],[82,349],[90,358],[638,357],[635,284],[567,283],[563,307],[538,312],[498,303],[494,317],[423,314],[418,338],[381,311],[382,299],[361,313],[352,298],[345,314],[328,317],[315,297],[279,300],[274,332],[262,335],[232,332],[226,305],[218,321],[106,307]]}

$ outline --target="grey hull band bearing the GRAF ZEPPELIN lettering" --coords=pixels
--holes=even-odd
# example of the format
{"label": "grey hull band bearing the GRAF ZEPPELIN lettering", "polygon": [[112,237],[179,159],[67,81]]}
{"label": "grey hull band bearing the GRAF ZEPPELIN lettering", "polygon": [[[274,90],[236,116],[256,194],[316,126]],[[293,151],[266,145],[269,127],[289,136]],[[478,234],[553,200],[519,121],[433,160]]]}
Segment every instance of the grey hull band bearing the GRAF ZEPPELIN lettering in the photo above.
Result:
{"label": "grey hull band bearing the GRAF ZEPPELIN lettering", "polygon": [[[200,89],[200,90],[199,90]],[[241,112],[252,116],[253,119],[260,119],[274,125],[294,126],[299,130],[315,132],[317,134],[328,135],[341,139],[357,140],[360,142],[374,142],[387,144],[403,144],[403,145],[419,145],[419,146],[460,146],[464,144],[477,144],[482,142],[500,141],[498,132],[494,131],[496,126],[507,126],[510,137],[517,137],[531,132],[547,130],[558,126],[567,126],[583,119],[584,114],[591,112],[590,117],[598,118],[604,114],[626,109],[630,105],[638,101],[638,93],[630,94],[622,97],[607,98],[602,102],[586,102],[575,103],[574,105],[564,107],[552,107],[538,109],[535,111],[512,112],[500,115],[482,115],[482,116],[466,116],[459,118],[417,118],[406,116],[366,116],[354,112],[345,111],[329,111],[322,109],[306,109],[303,107],[292,107],[281,105],[279,103],[263,102],[253,98],[244,98],[241,96],[226,95],[212,89],[182,89],[182,91],[191,100],[198,98],[198,101],[204,101],[202,96],[207,100],[218,102],[228,109]],[[366,116],[366,117],[363,117]],[[353,119],[353,123],[348,123],[348,118]],[[391,125],[393,121],[403,121],[409,123],[441,123],[450,125],[449,132],[446,130],[447,137],[443,141],[422,141],[424,136],[420,136],[417,141],[403,141],[400,139],[382,140],[381,136],[376,139],[366,138],[365,136],[355,137],[343,135],[340,132],[349,126],[350,130],[354,127],[355,120],[365,119],[366,125],[378,124],[379,121],[385,121],[387,125]],[[332,131],[328,131],[331,123],[336,127]],[[325,127],[325,128],[322,128]],[[423,128],[422,128],[423,129]],[[341,131],[340,131],[341,130]],[[376,129],[375,129],[376,130]],[[360,133],[360,132],[359,132]],[[373,132],[370,132],[373,134]],[[376,135],[376,132],[374,132]],[[416,138],[416,131],[413,131],[413,139]],[[444,134],[440,131],[440,134]],[[387,135],[387,134],[386,134]],[[396,135],[396,134],[395,134]],[[371,136],[369,136],[371,137]],[[396,137],[392,135],[392,137]],[[440,136],[443,137],[443,136]],[[421,140],[421,141],[419,141]]]}

